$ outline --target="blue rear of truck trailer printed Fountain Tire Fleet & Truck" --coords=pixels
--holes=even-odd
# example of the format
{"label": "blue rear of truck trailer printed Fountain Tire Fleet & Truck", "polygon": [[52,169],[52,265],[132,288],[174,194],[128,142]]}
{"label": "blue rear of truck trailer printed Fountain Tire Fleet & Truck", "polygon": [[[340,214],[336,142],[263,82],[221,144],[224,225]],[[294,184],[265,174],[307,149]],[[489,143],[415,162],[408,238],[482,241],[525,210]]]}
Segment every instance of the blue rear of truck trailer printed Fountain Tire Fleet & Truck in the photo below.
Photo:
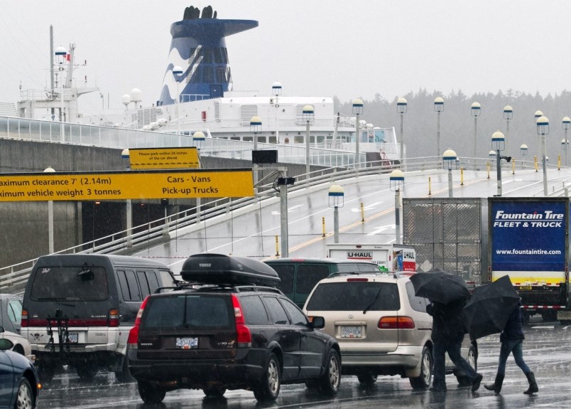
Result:
{"label": "blue rear of truck trailer printed Fountain Tire Fleet & Truck", "polygon": [[489,273],[509,275],[523,307],[543,319],[571,319],[568,198],[488,199]]}

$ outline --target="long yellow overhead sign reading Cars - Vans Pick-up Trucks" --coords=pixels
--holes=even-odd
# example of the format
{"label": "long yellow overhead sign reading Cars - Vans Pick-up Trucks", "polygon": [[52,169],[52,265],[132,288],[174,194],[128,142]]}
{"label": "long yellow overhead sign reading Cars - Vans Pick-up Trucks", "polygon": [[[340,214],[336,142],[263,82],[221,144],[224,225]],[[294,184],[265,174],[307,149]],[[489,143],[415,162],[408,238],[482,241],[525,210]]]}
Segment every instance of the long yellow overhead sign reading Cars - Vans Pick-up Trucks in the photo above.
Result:
{"label": "long yellow overhead sign reading Cars - Vans Pick-up Trucks", "polygon": [[254,196],[251,169],[0,175],[0,201],[93,201]]}

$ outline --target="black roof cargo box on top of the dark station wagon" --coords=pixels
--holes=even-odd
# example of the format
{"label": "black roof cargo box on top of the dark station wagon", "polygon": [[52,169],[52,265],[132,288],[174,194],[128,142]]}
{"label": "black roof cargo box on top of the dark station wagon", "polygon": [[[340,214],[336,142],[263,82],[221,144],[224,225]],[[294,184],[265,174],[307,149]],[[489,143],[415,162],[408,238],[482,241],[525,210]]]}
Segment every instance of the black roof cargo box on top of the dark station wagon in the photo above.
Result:
{"label": "black roof cargo box on top of the dark station wagon", "polygon": [[276,270],[259,260],[222,254],[191,255],[180,271],[183,280],[204,284],[256,284],[275,287]]}

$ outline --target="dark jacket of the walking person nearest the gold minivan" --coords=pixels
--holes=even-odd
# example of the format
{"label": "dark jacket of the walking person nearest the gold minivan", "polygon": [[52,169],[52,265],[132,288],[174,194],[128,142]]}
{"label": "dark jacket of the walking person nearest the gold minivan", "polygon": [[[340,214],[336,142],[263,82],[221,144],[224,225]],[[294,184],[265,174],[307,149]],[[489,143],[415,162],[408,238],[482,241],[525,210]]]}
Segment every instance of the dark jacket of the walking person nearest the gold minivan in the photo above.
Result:
{"label": "dark jacket of the walking person nearest the gold minivan", "polygon": [[455,339],[467,332],[462,310],[466,305],[465,299],[458,299],[449,304],[433,302],[426,306],[426,312],[433,316],[433,341]]}

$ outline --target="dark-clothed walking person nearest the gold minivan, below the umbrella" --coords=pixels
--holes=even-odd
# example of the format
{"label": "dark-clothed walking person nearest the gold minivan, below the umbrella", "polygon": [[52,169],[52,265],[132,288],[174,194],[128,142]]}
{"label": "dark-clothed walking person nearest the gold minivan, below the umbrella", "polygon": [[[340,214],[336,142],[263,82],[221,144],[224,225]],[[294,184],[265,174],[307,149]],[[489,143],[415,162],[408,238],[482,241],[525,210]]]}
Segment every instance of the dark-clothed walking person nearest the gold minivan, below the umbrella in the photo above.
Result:
{"label": "dark-clothed walking person nearest the gold minivan, below the umbrella", "polygon": [[426,312],[433,317],[433,353],[434,353],[434,379],[432,392],[446,391],[446,353],[455,364],[472,381],[472,392],[480,387],[482,375],[476,373],[474,368],[462,358],[460,349],[466,334],[466,324],[462,309],[465,299],[457,299],[449,304],[431,301],[426,306]]}

